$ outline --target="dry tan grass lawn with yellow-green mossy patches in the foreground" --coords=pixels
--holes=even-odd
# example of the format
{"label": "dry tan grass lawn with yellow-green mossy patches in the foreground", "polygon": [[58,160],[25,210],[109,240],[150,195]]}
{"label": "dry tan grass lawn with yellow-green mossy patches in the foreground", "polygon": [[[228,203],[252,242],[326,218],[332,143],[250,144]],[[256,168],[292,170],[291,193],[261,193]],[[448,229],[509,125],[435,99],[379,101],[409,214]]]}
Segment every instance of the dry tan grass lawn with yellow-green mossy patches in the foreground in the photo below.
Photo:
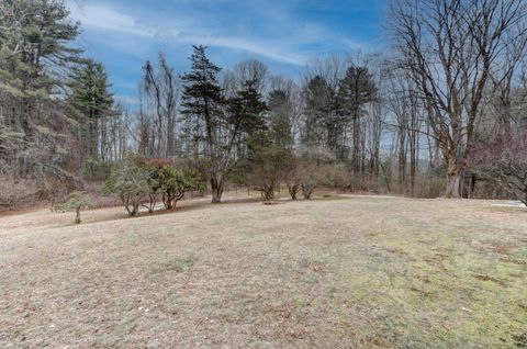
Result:
{"label": "dry tan grass lawn with yellow-green mossy patches in the foreground", "polygon": [[526,348],[527,212],[329,198],[0,217],[1,348]]}

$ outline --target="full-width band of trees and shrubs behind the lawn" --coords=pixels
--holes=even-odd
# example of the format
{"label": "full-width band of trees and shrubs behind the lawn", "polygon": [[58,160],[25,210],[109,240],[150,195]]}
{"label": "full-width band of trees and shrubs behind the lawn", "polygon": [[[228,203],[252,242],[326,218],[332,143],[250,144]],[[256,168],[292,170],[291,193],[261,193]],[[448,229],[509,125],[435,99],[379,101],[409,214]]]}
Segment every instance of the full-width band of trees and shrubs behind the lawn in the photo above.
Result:
{"label": "full-width band of trees and shrubs behind the lawn", "polygon": [[134,214],[157,195],[270,201],[280,185],[527,202],[526,5],[392,1],[390,47],[313,59],[295,79],[255,59],[218,67],[200,45],[188,71],[159,53],[127,105],[76,48],[64,1],[2,1],[0,210],[85,190]]}

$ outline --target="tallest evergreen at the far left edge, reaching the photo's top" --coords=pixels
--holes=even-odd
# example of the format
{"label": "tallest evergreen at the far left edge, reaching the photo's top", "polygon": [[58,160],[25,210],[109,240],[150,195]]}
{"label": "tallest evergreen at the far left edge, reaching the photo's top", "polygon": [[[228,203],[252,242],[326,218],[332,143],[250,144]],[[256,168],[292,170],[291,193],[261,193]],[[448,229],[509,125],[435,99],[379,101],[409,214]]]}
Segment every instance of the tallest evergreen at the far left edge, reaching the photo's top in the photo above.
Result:
{"label": "tallest evergreen at the far left edge, reaching the photo's top", "polygon": [[[65,74],[79,59],[79,24],[60,0],[0,1],[0,154],[20,174],[64,166]],[[63,122],[57,122],[58,120]],[[2,131],[3,130],[3,131]]]}

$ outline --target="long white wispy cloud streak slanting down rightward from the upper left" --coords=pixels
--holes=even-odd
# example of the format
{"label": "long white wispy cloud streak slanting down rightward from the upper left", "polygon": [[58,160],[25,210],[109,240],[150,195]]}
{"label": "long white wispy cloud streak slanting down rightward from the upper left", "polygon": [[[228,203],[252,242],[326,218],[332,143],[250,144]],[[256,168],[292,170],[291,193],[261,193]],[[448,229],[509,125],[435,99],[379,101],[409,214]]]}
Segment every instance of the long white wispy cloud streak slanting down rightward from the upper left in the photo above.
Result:
{"label": "long white wispy cloud streak slanting down rightward from the upper left", "polygon": [[[141,20],[132,13],[109,7],[108,4],[87,3],[79,5],[70,2],[71,15],[85,27],[111,31],[143,38],[156,38],[173,43],[203,44],[220,48],[231,48],[266,57],[274,61],[303,66],[312,53],[306,46],[328,44],[328,40],[338,41],[338,35],[311,23],[294,23],[287,18],[287,12],[259,12],[260,33],[247,33],[244,24],[223,23],[210,18],[210,14],[193,15],[182,13],[178,18],[167,18],[162,12],[142,13]],[[267,18],[265,18],[267,15]],[[228,18],[225,19],[228,21]],[[269,21],[267,23],[266,21]],[[221,22],[220,22],[221,23]],[[264,29],[267,26],[269,33]],[[292,31],[294,29],[294,32]],[[280,35],[281,33],[281,35]],[[260,35],[257,35],[260,34]],[[357,48],[360,44],[347,38],[338,43],[344,47]]]}

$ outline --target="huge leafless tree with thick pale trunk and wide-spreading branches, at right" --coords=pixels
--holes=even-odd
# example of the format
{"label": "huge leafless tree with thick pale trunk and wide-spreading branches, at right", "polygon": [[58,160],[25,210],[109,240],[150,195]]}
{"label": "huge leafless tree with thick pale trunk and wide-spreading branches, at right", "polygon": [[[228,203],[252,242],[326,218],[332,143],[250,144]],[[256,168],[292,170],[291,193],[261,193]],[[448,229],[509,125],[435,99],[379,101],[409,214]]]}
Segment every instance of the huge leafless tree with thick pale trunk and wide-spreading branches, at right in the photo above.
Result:
{"label": "huge leafless tree with thick pale trunk and wide-spreading branches, at right", "polygon": [[507,47],[526,40],[527,3],[399,0],[391,14],[401,66],[418,87],[447,167],[445,196],[459,198],[485,88]]}

